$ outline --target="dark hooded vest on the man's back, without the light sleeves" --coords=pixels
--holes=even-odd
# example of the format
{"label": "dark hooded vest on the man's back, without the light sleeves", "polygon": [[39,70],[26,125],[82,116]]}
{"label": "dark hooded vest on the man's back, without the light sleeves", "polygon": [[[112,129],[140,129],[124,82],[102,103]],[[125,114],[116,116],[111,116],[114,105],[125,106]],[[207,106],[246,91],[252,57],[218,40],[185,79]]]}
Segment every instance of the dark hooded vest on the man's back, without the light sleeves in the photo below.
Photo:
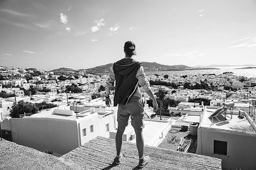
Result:
{"label": "dark hooded vest on the man's back, without the light sleeves", "polygon": [[129,58],[114,63],[113,70],[116,79],[114,106],[127,104],[132,94],[138,89],[136,73],[141,65],[141,62]]}

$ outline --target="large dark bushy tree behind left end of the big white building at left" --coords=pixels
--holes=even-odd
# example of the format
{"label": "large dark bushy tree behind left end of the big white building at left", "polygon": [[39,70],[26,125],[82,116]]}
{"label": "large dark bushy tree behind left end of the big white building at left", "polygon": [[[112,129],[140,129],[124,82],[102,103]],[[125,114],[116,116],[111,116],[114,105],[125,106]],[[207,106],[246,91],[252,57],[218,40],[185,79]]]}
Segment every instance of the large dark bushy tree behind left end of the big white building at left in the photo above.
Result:
{"label": "large dark bushy tree behind left end of the big white building at left", "polygon": [[10,117],[19,118],[24,113],[35,114],[37,111],[38,108],[36,108],[35,104],[19,101],[17,104],[13,103],[12,109],[10,110]]}

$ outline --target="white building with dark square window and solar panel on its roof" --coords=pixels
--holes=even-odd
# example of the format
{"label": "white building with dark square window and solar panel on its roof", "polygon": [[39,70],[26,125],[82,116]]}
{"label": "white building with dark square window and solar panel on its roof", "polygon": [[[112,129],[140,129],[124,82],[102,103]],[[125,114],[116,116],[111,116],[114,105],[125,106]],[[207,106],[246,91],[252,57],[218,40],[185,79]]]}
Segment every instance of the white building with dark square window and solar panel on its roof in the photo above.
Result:
{"label": "white building with dark square window and solar panel on its roof", "polygon": [[217,157],[225,169],[256,169],[256,127],[247,113],[245,117],[209,118],[205,111],[198,127],[196,153]]}

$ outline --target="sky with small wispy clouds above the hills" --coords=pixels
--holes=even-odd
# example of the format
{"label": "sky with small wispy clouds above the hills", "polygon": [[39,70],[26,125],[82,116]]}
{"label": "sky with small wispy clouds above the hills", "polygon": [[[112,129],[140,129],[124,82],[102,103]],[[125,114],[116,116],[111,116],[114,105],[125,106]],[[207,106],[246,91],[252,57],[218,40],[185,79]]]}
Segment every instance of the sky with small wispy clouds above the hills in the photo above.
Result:
{"label": "sky with small wispy clouds above the hills", "polygon": [[256,64],[255,0],[0,0],[0,66]]}

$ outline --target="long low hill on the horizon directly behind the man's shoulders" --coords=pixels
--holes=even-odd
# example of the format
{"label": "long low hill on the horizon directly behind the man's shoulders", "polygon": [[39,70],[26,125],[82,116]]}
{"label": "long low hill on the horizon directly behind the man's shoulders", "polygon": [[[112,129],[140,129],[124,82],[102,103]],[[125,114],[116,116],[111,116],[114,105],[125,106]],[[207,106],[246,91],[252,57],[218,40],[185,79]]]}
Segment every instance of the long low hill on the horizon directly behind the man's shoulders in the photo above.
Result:
{"label": "long low hill on the horizon directly behind the man's shoulders", "polygon": [[[144,71],[184,71],[184,70],[201,70],[201,69],[216,69],[212,67],[189,67],[189,66],[184,66],[184,65],[173,65],[173,66],[168,66],[168,65],[163,65],[159,64],[157,62],[141,62]],[[102,66],[97,66],[97,67],[92,67],[90,69],[85,69],[86,73],[90,74],[106,74],[109,72],[110,67],[112,67],[113,64],[106,64]]]}

